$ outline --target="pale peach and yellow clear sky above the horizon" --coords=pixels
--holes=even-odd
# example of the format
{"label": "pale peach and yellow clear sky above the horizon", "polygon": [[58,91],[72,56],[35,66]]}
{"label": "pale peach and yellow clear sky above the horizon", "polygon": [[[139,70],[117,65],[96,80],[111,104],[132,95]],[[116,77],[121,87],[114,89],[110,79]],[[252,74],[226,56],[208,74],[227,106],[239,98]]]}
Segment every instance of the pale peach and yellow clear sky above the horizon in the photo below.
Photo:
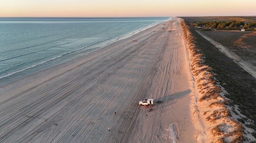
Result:
{"label": "pale peach and yellow clear sky above the horizon", "polygon": [[0,17],[256,16],[255,0],[0,0]]}

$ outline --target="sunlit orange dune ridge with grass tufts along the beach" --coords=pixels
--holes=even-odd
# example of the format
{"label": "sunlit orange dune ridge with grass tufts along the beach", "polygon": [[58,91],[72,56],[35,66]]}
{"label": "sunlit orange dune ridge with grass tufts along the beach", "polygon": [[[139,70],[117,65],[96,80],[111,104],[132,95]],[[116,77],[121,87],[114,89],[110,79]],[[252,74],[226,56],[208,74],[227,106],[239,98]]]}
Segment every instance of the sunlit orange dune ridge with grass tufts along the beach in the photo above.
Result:
{"label": "sunlit orange dune ridge with grass tufts along the beach", "polygon": [[196,38],[184,20],[181,27],[189,52],[194,86],[198,90],[198,94],[192,95],[191,104],[192,118],[198,129],[195,138],[198,142],[206,143],[242,142],[244,128],[232,118],[229,99],[223,96],[225,89],[215,80],[212,68],[204,63],[204,53],[196,46]]}

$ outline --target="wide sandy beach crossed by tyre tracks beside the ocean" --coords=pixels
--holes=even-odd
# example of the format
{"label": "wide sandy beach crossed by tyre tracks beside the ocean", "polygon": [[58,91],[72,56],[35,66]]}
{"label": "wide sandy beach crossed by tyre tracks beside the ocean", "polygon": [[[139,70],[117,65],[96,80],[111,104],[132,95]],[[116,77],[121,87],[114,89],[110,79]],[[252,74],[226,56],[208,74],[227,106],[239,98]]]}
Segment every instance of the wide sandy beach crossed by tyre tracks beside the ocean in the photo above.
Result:
{"label": "wide sandy beach crossed by tyre tracks beside the ocean", "polygon": [[197,142],[181,21],[0,87],[0,142]]}

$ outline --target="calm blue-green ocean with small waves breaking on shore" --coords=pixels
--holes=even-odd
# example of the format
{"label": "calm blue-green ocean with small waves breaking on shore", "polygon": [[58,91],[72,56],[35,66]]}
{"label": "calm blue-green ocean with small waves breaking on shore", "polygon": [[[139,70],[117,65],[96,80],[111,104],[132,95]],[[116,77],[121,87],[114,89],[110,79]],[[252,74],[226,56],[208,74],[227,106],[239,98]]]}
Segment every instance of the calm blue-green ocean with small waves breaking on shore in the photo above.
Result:
{"label": "calm blue-green ocean with small waves breaking on shore", "polygon": [[64,63],[169,19],[0,18],[0,82]]}

